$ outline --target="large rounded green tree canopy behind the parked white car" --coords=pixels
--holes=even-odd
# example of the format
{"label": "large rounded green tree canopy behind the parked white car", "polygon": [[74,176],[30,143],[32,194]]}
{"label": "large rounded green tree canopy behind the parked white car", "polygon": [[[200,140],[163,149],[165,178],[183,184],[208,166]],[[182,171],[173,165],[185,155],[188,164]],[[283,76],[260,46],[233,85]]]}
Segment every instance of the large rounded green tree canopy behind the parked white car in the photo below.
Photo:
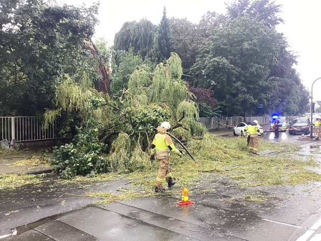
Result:
{"label": "large rounded green tree canopy behind the parked white car", "polygon": [[[291,90],[290,83],[297,81],[271,75],[271,68],[278,66],[280,53],[286,47],[284,37],[275,29],[256,18],[239,16],[210,31],[209,42],[202,47],[191,71],[201,87],[215,91],[225,114],[240,115],[246,111],[251,115],[279,93],[282,99],[275,102],[284,102]],[[282,71],[290,72],[291,67],[288,64]],[[279,86],[288,88],[287,93]]]}

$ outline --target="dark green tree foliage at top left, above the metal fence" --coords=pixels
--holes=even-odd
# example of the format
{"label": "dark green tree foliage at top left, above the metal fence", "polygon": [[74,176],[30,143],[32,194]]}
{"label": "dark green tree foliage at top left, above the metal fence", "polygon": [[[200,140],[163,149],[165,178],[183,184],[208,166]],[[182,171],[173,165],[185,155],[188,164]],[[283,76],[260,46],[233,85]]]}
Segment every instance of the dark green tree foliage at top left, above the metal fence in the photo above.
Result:
{"label": "dark green tree foliage at top left, above the metal fence", "polygon": [[51,105],[59,76],[75,72],[70,66],[79,66],[76,63],[83,59],[84,41],[94,34],[97,11],[96,4],[75,8],[47,6],[39,0],[1,2],[2,115],[33,115]]}

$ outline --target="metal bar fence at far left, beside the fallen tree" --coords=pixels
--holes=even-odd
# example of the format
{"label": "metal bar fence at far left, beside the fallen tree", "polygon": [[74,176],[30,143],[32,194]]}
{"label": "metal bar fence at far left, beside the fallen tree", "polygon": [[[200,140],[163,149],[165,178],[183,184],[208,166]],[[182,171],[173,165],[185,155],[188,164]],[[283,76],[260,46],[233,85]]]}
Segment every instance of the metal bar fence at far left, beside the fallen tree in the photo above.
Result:
{"label": "metal bar fence at far left, beside the fallen tree", "polygon": [[57,122],[47,129],[35,116],[0,117],[2,140],[37,141],[61,138],[57,133]]}

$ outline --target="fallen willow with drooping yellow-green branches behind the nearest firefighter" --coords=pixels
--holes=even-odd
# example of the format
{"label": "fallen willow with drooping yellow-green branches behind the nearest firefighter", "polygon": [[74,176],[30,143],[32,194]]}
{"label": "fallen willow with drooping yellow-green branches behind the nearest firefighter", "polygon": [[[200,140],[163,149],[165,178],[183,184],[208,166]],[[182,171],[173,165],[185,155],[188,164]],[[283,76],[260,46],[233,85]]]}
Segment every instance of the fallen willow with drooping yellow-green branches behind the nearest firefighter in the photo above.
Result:
{"label": "fallen willow with drooping yellow-green branches behind the nearest firefighter", "polygon": [[[153,71],[141,65],[130,75],[129,88],[124,88],[121,98],[113,102],[90,88],[86,74],[80,84],[66,76],[57,89],[57,108],[47,110],[45,120],[50,123],[61,111],[76,110],[82,121],[73,142],[56,151],[60,176],[150,168],[147,156],[155,135],[153,128],[163,121],[171,123],[177,136],[187,140],[202,137],[206,129],[194,120],[198,117],[197,104],[181,75],[181,60],[176,53]],[[90,139],[93,149],[85,138]]]}

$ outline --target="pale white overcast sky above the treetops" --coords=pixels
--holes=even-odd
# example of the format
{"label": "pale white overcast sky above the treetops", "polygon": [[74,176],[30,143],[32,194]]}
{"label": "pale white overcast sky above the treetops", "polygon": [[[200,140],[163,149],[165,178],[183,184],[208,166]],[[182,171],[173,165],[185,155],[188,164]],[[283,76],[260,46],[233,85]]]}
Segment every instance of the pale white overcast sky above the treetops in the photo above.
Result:
{"label": "pale white overcast sky above the treetops", "polygon": [[[70,5],[84,3],[90,6],[94,0],[58,0]],[[96,26],[95,38],[103,37],[112,45],[115,33],[126,21],[139,21],[142,18],[158,24],[166,7],[167,17],[184,18],[198,23],[207,11],[225,13],[226,0],[101,0],[99,6],[99,24]],[[303,85],[311,92],[312,83],[321,77],[321,41],[320,30],[320,0],[276,0],[283,5],[280,17],[285,21],[278,26],[278,32],[284,33],[290,49],[299,56],[295,66]],[[313,85],[313,100],[321,100],[321,79]]]}

